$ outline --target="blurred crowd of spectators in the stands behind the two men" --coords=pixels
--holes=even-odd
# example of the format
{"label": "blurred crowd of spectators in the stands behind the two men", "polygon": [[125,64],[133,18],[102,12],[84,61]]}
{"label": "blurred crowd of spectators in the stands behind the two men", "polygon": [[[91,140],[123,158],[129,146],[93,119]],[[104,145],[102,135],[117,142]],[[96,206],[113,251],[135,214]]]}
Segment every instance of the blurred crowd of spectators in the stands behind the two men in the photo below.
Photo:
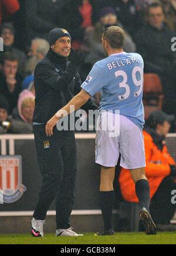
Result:
{"label": "blurred crowd of spectators in the stands behind the two men", "polygon": [[[51,29],[67,29],[72,47],[84,51],[79,70],[83,80],[94,63],[104,58],[101,35],[110,25],[124,29],[124,51],[143,56],[145,73],[158,75],[163,110],[176,115],[176,51],[171,50],[171,39],[176,36],[176,0],[2,0],[0,133],[32,133],[33,72],[48,52]],[[2,124],[7,120],[9,127]]]}

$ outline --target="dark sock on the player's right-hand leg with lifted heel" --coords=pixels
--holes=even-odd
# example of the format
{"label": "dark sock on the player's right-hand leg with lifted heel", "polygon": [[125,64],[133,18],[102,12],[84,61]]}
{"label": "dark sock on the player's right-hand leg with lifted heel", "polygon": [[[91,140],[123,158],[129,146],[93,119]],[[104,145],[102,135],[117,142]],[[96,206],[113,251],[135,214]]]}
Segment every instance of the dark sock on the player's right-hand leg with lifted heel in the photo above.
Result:
{"label": "dark sock on the player's right-hand leg with lifted heel", "polygon": [[141,208],[150,212],[150,186],[147,180],[138,180],[136,183],[136,194]]}

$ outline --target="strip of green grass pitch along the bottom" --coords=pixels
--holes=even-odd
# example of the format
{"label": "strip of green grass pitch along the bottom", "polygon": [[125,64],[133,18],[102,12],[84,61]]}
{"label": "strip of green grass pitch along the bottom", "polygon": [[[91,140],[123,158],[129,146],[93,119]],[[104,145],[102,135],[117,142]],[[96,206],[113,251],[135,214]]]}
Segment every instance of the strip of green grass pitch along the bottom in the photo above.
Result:
{"label": "strip of green grass pitch along the bottom", "polygon": [[0,235],[0,244],[176,244],[176,232],[158,233],[147,236],[144,233],[116,233],[112,237],[97,237],[84,234],[84,237],[55,237],[46,234],[44,238],[31,235]]}

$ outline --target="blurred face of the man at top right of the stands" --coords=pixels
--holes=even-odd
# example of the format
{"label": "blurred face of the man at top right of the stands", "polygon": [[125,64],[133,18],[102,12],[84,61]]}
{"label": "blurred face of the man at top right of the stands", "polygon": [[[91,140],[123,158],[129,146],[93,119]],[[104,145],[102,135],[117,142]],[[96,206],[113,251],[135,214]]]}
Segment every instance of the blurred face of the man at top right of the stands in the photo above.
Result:
{"label": "blurred face of the man at top right of the stands", "polygon": [[164,13],[161,7],[150,8],[148,22],[155,28],[161,28],[164,22]]}

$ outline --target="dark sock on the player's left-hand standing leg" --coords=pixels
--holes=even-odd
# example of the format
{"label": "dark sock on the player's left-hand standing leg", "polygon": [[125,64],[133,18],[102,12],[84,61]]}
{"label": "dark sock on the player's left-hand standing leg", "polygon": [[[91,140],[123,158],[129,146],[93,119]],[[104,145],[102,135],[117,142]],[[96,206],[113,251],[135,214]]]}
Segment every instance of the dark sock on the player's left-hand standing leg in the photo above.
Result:
{"label": "dark sock on the player's left-hand standing leg", "polygon": [[114,191],[100,192],[101,212],[104,220],[104,230],[112,228]]}

